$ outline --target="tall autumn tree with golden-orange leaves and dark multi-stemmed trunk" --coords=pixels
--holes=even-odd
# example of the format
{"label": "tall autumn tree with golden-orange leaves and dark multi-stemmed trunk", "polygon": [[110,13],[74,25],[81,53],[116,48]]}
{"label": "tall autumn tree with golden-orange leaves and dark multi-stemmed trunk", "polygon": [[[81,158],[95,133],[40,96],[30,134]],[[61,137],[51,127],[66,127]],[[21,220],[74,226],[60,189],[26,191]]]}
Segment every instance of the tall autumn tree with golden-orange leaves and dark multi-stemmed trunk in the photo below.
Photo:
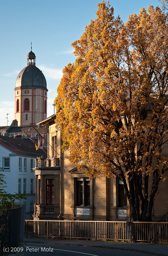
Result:
{"label": "tall autumn tree with golden-orange leaves and dark multi-stemmed trunk", "polygon": [[104,1],[72,43],[55,100],[63,149],[90,177],[122,180],[134,221],[151,221],[168,169],[168,27],[156,7],[124,25]]}

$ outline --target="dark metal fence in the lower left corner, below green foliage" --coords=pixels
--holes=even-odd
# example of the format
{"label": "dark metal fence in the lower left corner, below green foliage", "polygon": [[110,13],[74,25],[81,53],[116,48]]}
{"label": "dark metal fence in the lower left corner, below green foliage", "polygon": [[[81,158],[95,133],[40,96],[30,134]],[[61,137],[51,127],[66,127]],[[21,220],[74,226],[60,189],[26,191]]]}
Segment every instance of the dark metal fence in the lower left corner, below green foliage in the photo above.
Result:
{"label": "dark metal fence in the lower left corner, below green foliage", "polygon": [[0,211],[0,255],[6,254],[4,248],[19,245],[21,207]]}

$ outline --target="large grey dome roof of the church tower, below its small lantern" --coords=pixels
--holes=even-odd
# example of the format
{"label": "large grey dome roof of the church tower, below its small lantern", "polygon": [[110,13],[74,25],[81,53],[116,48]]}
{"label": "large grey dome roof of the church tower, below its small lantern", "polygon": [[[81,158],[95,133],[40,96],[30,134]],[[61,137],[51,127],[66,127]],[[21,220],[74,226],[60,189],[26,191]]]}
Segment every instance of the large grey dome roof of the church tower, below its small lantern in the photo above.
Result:
{"label": "large grey dome roof of the church tower, below its small lantern", "polygon": [[34,65],[23,68],[16,80],[15,89],[19,88],[42,88],[47,90],[47,83],[42,71]]}

